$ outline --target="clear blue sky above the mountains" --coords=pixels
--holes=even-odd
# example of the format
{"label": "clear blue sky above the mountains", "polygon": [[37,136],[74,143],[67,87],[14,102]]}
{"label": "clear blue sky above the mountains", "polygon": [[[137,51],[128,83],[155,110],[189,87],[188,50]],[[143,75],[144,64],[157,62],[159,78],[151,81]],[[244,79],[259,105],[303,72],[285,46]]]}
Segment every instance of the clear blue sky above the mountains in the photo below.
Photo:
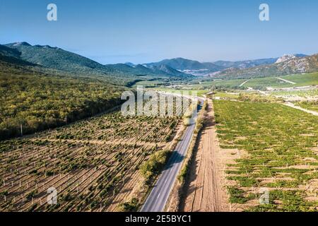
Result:
{"label": "clear blue sky above the mountains", "polygon": [[[49,3],[58,21],[47,21]],[[259,20],[261,3],[270,21]],[[102,64],[314,54],[317,9],[314,0],[0,0],[0,43],[49,44]]]}

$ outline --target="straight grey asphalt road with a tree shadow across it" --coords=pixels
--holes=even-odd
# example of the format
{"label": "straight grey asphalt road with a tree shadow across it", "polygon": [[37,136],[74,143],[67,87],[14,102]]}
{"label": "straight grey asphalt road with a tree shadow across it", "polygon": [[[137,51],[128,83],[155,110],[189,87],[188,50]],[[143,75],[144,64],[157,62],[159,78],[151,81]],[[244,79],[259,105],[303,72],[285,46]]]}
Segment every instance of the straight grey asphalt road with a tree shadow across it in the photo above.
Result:
{"label": "straight grey asphalt road with a tree shadow across it", "polygon": [[179,170],[182,167],[184,156],[186,155],[189,145],[192,141],[194,128],[195,124],[192,123],[185,129],[181,141],[177,143],[177,146],[168,160],[163,173],[160,175],[158,182],[155,184],[151,194],[143,204],[141,212],[162,212],[165,208],[165,203],[169,198],[170,191],[172,190]]}

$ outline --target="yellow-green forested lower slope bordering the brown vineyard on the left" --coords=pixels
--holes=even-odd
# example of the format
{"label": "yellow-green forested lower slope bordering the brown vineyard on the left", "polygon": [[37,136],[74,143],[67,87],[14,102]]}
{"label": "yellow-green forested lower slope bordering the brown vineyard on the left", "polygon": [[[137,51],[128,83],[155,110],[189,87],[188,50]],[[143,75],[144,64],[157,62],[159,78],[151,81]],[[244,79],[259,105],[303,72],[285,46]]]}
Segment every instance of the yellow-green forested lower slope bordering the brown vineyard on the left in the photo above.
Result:
{"label": "yellow-green forested lower slope bordering the brown vineyard on the left", "polygon": [[[8,59],[8,58],[6,58]],[[61,126],[119,104],[124,88],[0,59],[0,139]]]}

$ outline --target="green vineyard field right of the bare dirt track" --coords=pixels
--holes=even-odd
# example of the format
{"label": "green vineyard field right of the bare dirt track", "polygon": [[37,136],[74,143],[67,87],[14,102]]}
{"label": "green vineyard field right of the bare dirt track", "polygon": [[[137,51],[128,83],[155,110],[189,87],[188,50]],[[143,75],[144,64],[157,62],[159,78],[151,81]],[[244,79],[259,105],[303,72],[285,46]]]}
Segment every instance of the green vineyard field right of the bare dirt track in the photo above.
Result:
{"label": "green vineyard field right of the bare dirt track", "polygon": [[215,100],[214,107],[221,148],[248,153],[228,165],[236,184],[230,202],[257,201],[267,188],[270,203],[247,210],[317,211],[317,117],[276,103]]}

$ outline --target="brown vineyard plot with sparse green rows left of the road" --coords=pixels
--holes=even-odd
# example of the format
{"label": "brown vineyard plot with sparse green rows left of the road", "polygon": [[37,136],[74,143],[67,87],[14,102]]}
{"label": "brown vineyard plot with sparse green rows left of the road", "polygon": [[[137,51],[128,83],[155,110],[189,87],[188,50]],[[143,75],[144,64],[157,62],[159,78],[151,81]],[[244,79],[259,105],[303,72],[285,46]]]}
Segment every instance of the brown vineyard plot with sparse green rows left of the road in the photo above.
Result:
{"label": "brown vineyard plot with sparse green rows left of the road", "polygon": [[[141,163],[167,148],[181,125],[180,117],[113,112],[2,141],[0,211],[117,210],[141,182]],[[50,188],[54,205],[47,204]]]}

